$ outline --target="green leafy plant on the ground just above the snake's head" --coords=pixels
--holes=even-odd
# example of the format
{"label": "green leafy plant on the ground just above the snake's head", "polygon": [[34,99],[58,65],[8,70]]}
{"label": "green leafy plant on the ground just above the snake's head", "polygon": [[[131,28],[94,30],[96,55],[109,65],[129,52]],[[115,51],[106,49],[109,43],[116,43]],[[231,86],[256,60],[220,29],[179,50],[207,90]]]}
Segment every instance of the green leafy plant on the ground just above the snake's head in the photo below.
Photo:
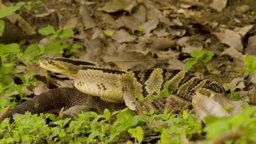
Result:
{"label": "green leafy plant on the ground just above the snake's head", "polygon": [[82,48],[82,46],[79,44],[72,44],[71,42],[65,40],[74,35],[71,28],[57,29],[55,31],[53,26],[47,26],[38,29],[38,32],[42,35],[49,35],[49,40],[52,40],[50,43],[44,45],[46,53],[55,55],[60,53],[62,50],[65,50],[65,56],[68,56],[77,51],[77,49]]}

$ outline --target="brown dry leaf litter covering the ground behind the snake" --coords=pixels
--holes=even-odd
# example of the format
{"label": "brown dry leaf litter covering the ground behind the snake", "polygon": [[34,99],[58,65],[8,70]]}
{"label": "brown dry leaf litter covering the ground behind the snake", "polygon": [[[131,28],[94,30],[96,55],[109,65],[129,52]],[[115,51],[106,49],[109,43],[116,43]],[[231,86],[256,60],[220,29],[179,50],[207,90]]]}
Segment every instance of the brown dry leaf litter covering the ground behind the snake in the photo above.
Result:
{"label": "brown dry leaf litter covering the ground behind the snake", "polygon": [[[70,5],[72,7],[69,7]],[[237,88],[236,91],[241,93],[248,92],[250,102],[255,104],[256,76],[252,75],[252,83],[248,85],[243,82],[247,75],[236,72],[237,69],[243,68],[243,59],[246,55],[256,56],[256,16],[250,11],[256,9],[255,5],[254,1],[219,0],[212,3],[134,0],[77,3],[54,1],[45,3],[48,10],[43,10],[41,15],[26,15],[25,18],[30,19],[25,20],[33,23],[31,16],[36,20],[38,17],[55,17],[56,20],[54,19],[52,23],[58,28],[72,28],[75,34],[71,39],[74,43],[84,46],[84,49],[77,50],[71,57],[89,59],[103,67],[127,70],[156,67],[184,69],[184,59],[190,58],[189,53],[194,49],[213,51],[215,56],[206,64],[206,68],[212,73],[204,74],[202,77],[229,83],[228,85]],[[48,25],[39,24],[33,25],[34,28]],[[50,42],[47,38],[33,40],[42,47]],[[64,52],[45,56],[62,56]],[[35,70],[34,73],[46,79],[44,86],[36,86],[34,93],[39,94],[53,86],[73,87],[71,77],[56,74],[48,76],[46,71],[40,70]],[[227,104],[231,104],[231,111],[224,109]],[[219,95],[208,98],[196,94],[193,98],[195,111],[202,119],[210,114],[233,115],[241,112],[240,105],[241,101],[222,99]]]}

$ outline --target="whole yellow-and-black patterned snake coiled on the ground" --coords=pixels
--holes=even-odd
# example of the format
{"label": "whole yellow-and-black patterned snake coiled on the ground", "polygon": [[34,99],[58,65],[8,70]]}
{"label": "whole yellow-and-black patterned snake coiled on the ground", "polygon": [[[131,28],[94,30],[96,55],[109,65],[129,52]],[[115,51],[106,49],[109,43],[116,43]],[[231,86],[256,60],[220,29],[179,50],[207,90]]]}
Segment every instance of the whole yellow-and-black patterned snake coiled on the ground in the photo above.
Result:
{"label": "whole yellow-and-black patterned snake coiled on the ground", "polygon": [[[184,70],[148,69],[127,71],[100,67],[97,63],[81,59],[49,58],[40,59],[40,67],[55,73],[75,77],[75,88],[56,88],[40,94],[17,106],[14,113],[49,113],[65,110],[74,105],[85,104],[88,110],[102,113],[105,108],[110,111],[125,107],[123,94],[132,94],[137,100],[150,95],[158,96],[169,82],[167,97],[141,102],[143,110],[161,113],[165,109],[170,113],[179,113],[191,109],[192,96],[196,92],[206,95],[223,93],[224,88],[217,81],[202,80]],[[93,96],[92,96],[93,95]]]}

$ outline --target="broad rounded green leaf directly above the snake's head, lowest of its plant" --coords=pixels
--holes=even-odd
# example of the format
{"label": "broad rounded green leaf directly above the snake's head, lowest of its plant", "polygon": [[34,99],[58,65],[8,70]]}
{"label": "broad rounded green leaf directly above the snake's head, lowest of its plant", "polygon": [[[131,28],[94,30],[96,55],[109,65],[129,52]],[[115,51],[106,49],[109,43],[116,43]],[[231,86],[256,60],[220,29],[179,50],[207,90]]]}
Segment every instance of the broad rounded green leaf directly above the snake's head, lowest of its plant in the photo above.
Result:
{"label": "broad rounded green leaf directly above the snake's head, lowest of its plant", "polygon": [[63,50],[60,40],[55,40],[53,43],[46,44],[44,45],[44,48],[45,52],[53,55],[60,53]]}

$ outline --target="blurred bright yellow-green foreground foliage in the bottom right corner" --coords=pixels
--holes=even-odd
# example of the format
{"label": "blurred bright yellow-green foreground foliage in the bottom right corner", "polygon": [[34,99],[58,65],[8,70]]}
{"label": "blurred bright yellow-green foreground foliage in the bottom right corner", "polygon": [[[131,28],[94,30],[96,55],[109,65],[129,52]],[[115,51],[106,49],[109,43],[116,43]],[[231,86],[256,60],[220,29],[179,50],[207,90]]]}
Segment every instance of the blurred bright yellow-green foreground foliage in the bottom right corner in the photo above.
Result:
{"label": "blurred bright yellow-green foreground foliage in the bottom right corner", "polygon": [[[216,138],[219,135],[224,135],[230,132],[241,133],[239,139],[231,139],[229,143],[255,143],[256,142],[256,107],[234,115],[232,117],[214,117],[207,116],[205,118],[206,127],[203,131],[206,132],[206,137],[209,140]],[[227,141],[228,142],[228,141]]]}

